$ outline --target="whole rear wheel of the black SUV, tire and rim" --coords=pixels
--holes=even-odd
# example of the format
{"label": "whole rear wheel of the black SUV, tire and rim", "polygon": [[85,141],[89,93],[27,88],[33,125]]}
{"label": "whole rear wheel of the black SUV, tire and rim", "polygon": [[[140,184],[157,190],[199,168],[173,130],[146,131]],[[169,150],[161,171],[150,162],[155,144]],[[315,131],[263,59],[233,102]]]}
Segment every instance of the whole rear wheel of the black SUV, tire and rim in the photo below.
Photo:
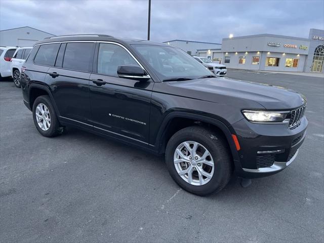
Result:
{"label": "whole rear wheel of the black SUV, tire and rim", "polygon": [[45,137],[55,137],[63,132],[51,99],[48,95],[38,96],[32,107],[34,125]]}

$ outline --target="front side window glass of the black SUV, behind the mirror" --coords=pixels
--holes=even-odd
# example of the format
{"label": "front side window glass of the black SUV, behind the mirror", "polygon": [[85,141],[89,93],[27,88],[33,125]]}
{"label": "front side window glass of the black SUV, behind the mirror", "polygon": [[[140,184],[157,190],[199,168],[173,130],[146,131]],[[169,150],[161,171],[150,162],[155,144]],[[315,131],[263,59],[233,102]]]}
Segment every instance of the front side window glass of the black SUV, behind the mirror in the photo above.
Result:
{"label": "front side window glass of the black SUV, behind the mirror", "polygon": [[101,43],[98,53],[98,73],[117,76],[117,67],[124,64],[135,64],[134,58],[122,47]]}

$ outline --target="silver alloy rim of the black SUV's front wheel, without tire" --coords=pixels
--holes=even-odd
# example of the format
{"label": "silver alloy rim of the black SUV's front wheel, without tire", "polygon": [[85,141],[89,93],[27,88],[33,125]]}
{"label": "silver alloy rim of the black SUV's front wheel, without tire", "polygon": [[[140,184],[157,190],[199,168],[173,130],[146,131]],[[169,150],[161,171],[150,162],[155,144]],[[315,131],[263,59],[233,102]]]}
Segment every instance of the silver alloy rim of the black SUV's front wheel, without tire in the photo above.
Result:
{"label": "silver alloy rim of the black SUV's front wheel, without tire", "polygon": [[174,166],[187,183],[201,186],[214,175],[214,160],[206,147],[195,141],[185,141],[174,152]]}

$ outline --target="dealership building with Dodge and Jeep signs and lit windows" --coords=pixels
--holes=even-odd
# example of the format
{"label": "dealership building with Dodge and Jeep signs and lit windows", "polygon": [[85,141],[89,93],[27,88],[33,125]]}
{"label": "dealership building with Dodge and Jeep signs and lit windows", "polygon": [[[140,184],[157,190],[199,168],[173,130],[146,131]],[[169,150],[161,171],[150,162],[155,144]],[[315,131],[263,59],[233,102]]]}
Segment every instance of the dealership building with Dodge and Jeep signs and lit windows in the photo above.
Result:
{"label": "dealership building with Dodge and Jeep signs and lit windows", "polygon": [[310,29],[308,38],[256,34],[223,38],[221,50],[198,50],[199,56],[228,68],[324,72],[324,30]]}

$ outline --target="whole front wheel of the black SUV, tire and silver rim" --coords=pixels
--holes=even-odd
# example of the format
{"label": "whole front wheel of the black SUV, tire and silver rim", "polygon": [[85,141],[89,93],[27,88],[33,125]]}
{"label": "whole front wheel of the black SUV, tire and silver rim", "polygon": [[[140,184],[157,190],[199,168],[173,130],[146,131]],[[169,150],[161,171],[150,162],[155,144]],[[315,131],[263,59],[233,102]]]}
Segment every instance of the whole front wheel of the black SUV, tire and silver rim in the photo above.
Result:
{"label": "whole front wheel of the black SUV, tire and silver rim", "polygon": [[166,164],[180,187],[197,195],[223,189],[232,174],[232,159],[226,141],[212,130],[188,127],[168,142]]}

